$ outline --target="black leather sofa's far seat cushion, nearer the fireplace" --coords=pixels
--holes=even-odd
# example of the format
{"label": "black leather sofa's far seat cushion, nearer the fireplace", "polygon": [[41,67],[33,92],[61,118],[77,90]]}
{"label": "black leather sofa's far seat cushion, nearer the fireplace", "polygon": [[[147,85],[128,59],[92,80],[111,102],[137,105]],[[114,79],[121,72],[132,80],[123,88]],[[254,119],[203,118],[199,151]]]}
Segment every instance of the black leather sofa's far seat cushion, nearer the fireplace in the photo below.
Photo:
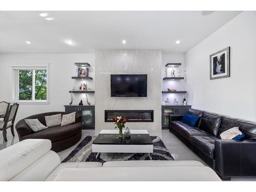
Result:
{"label": "black leather sofa's far seat cushion, nearer the fireplace", "polygon": [[198,129],[197,127],[184,123],[182,121],[171,121],[170,126],[172,127],[172,129],[180,133],[187,140],[190,140],[190,136],[193,135],[210,136],[209,133]]}

